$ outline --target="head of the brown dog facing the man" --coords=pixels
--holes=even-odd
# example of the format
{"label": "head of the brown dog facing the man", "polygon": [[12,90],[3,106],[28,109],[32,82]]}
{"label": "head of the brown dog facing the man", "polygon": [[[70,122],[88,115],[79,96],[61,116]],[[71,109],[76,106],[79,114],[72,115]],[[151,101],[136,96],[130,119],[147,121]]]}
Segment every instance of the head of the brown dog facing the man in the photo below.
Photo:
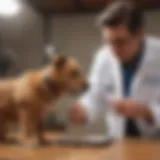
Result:
{"label": "head of the brown dog facing the man", "polygon": [[84,73],[78,61],[69,56],[53,55],[46,79],[54,88],[64,88],[72,93],[83,92],[88,88]]}

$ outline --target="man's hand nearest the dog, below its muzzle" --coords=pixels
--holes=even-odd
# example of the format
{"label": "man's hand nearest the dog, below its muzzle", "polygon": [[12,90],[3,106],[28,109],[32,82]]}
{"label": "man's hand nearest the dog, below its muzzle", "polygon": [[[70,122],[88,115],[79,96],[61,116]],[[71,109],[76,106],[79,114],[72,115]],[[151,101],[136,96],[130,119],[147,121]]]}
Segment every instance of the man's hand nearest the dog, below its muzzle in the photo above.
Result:
{"label": "man's hand nearest the dog, below its muzzle", "polygon": [[83,124],[87,121],[87,113],[84,107],[74,104],[69,111],[69,119],[76,124]]}

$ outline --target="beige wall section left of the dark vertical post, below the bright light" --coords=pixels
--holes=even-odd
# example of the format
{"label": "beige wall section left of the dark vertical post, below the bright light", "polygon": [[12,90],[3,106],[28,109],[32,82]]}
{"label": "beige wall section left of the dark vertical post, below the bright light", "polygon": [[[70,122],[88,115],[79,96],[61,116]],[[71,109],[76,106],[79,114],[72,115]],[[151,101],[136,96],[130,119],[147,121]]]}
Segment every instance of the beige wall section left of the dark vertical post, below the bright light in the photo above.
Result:
{"label": "beige wall section left of the dark vertical post, below the bright light", "polygon": [[14,72],[42,63],[42,19],[31,7],[21,4],[20,12],[13,16],[0,16],[0,45],[17,53]]}

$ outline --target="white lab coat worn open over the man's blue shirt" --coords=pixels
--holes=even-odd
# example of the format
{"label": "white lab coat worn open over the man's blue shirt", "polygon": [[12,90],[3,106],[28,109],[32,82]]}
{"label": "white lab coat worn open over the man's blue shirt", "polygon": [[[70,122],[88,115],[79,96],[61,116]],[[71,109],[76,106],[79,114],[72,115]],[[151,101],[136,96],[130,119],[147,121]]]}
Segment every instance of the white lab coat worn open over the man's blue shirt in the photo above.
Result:
{"label": "white lab coat worn open over the man's blue shirt", "polygon": [[[123,83],[120,63],[109,46],[96,53],[89,76],[90,89],[80,98],[88,113],[89,123],[105,116],[108,135],[121,138],[125,133],[125,117],[118,115],[107,101],[121,99]],[[132,80],[131,97],[147,104],[154,123],[137,119],[142,136],[160,137],[160,40],[146,37],[144,57]]]}

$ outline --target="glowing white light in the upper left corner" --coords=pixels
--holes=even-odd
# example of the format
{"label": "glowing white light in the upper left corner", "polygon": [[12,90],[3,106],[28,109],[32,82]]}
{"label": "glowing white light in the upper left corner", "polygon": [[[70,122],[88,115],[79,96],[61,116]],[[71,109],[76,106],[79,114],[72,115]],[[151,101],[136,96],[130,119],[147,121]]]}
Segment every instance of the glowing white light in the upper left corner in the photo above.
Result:
{"label": "glowing white light in the upper left corner", "polygon": [[0,15],[12,16],[18,13],[19,9],[17,0],[0,0]]}

